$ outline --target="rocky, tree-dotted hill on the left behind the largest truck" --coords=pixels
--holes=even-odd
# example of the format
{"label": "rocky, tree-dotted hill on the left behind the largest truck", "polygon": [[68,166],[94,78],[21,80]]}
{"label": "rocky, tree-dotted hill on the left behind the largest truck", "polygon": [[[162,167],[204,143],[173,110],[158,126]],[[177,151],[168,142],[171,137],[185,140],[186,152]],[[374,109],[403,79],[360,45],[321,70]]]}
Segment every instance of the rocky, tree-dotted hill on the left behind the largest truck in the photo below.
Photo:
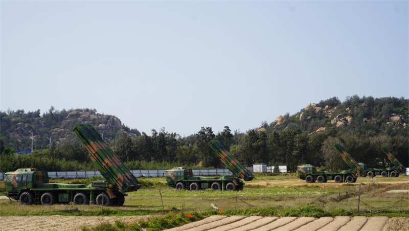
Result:
{"label": "rocky, tree-dotted hill on the left behind the largest truck", "polygon": [[48,137],[57,144],[76,141],[72,132],[76,124],[93,125],[108,142],[115,139],[119,132],[140,135],[137,129],[129,129],[117,117],[97,113],[95,109],[56,111],[52,107],[42,116],[39,110],[27,113],[24,110],[0,112],[1,140],[4,145],[23,150],[31,147],[31,132],[35,149],[48,147]]}

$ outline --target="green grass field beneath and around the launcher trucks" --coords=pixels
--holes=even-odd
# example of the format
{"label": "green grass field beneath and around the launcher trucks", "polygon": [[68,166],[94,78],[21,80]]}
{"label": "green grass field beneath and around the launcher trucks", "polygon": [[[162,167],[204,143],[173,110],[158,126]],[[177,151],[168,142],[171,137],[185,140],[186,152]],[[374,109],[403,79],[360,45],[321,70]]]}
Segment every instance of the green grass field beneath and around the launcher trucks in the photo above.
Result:
{"label": "green grass field beneath and around the launcher trucks", "polygon": [[[164,177],[142,177],[139,180],[143,187],[137,192],[130,192],[124,206],[121,207],[71,204],[23,206],[16,201],[0,199],[0,215],[115,216],[155,215],[163,214],[163,211],[217,214],[218,211],[210,204],[219,207],[223,214],[257,214],[271,208],[281,211],[307,205],[314,205],[323,211],[356,214],[360,187],[360,211],[370,211],[370,215],[409,216],[409,193],[388,193],[391,190],[407,190],[408,176],[359,178],[356,183],[305,183],[288,174],[256,175],[255,180],[248,182],[240,192],[175,191],[166,186]],[[80,183],[87,180],[55,181]],[[78,211],[63,212],[73,209]]]}

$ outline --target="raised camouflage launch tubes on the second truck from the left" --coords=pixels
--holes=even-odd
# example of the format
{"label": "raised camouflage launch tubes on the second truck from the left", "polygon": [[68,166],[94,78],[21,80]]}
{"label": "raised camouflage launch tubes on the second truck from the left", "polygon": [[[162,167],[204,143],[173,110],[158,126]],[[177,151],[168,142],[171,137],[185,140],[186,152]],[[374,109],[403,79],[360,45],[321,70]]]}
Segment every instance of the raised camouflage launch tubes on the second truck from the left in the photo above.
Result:
{"label": "raised camouflage launch tubes on the second truck from the left", "polygon": [[221,163],[223,163],[223,165],[228,168],[233,175],[238,178],[242,178],[245,181],[253,180],[254,175],[249,172],[246,167],[240,164],[239,160],[237,160],[236,157],[226,150],[220,141],[213,140],[209,143],[209,146],[220,157]]}

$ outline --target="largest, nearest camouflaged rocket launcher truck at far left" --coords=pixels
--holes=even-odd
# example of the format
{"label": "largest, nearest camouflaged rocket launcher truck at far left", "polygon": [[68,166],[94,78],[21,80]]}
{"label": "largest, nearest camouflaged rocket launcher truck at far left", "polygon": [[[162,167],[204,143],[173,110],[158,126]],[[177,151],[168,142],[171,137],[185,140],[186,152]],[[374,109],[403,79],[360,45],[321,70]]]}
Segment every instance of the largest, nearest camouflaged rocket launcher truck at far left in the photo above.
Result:
{"label": "largest, nearest camouflaged rocket launcher truck at far left", "polygon": [[121,206],[125,202],[126,192],[137,191],[141,187],[137,178],[91,125],[77,125],[73,131],[85,145],[89,157],[105,180],[90,181],[87,184],[50,183],[46,171],[17,169],[4,174],[6,196],[26,205],[73,201],[78,205],[96,203]]}

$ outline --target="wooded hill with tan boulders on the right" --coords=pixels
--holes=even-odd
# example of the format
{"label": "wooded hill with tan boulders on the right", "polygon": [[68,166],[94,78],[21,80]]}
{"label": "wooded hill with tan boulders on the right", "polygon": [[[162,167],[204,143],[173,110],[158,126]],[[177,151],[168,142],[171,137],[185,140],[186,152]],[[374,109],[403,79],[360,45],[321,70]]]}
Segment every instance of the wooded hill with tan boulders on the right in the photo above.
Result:
{"label": "wooded hill with tan boulders on the right", "polygon": [[262,125],[267,131],[301,129],[320,133],[328,129],[355,134],[408,135],[409,100],[404,98],[348,97],[340,102],[336,97],[310,103],[298,113],[278,116],[270,124]]}

